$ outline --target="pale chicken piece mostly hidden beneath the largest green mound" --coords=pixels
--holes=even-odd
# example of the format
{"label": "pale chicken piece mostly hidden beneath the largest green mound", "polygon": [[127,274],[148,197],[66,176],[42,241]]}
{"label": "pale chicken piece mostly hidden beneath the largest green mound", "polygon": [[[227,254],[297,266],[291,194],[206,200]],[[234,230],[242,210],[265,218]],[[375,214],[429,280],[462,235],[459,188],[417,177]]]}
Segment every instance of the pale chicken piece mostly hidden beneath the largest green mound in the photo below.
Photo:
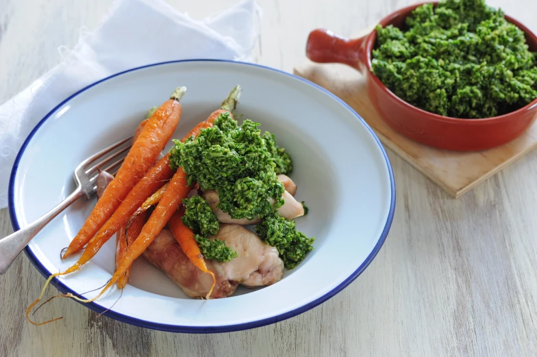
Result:
{"label": "pale chicken piece mostly hidden beneath the largest green mound", "polygon": [[[203,198],[208,202],[212,211],[218,217],[218,222],[221,223],[231,223],[231,224],[240,224],[244,226],[245,224],[258,224],[261,222],[259,218],[254,218],[253,220],[247,220],[246,218],[241,218],[240,220],[234,220],[229,213],[222,211],[216,205],[220,202],[218,198],[218,193],[216,191],[206,191],[203,193]],[[284,205],[279,207],[278,213],[282,215],[286,220],[293,220],[296,217],[304,215],[304,207],[300,202],[297,202],[293,196],[289,194],[288,191],[284,191],[282,195],[284,198]],[[274,200],[270,199],[271,203],[274,203]]]}

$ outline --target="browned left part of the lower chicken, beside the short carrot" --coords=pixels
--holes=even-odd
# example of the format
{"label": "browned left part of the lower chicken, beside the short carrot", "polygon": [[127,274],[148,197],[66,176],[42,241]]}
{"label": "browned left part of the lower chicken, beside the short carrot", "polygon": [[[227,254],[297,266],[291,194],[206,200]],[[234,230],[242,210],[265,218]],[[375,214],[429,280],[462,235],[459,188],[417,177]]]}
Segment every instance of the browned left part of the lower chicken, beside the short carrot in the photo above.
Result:
{"label": "browned left part of the lower chicken, beside the short carrot", "polygon": [[[163,229],[143,255],[149,263],[161,269],[179,285],[186,295],[205,297],[209,293],[212,277],[192,264],[169,230]],[[211,296],[218,298],[232,295],[237,285],[238,282],[230,282],[223,276],[216,276],[216,286]]]}

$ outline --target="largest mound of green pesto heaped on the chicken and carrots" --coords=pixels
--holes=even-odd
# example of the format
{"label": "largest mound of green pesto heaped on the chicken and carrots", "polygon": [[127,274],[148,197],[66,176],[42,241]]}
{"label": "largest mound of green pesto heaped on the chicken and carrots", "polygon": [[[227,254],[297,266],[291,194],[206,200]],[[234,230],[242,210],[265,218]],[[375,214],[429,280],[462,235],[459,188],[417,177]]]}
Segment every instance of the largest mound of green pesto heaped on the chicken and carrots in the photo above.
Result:
{"label": "largest mound of green pesto heaped on the chicken and carrots", "polygon": [[218,191],[218,208],[232,218],[264,217],[284,202],[284,186],[274,172],[275,163],[260,135],[259,124],[245,120],[242,126],[221,114],[212,128],[203,129],[196,140],[174,140],[170,166],[182,166],[188,183],[204,191]]}

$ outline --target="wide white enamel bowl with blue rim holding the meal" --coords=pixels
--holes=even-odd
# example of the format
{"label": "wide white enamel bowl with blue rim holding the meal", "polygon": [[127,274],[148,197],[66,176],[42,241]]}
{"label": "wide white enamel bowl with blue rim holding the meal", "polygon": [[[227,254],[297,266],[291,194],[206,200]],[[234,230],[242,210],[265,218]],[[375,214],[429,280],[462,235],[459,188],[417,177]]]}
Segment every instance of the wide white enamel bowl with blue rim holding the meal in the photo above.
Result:
{"label": "wide white enamel bowl with blue rim holding the meal", "polygon": [[[132,135],[147,109],[165,101],[177,86],[187,87],[174,136],[179,138],[217,109],[237,84],[242,87],[237,114],[275,133],[277,143],[292,155],[290,176],[298,185],[296,198],[310,208],[308,215],[297,218],[297,228],[316,238],[312,252],[274,285],[240,288],[232,297],[214,300],[187,297],[140,258],[119,300],[120,292],[114,288],[85,306],[103,312],[118,300],[105,315],[156,330],[243,330],[321,304],[375,258],[395,209],[392,168],[375,133],[323,88],[286,72],[240,62],[188,60],[134,68],[60,103],[32,131],[16,158],[9,189],[14,230],[68,196],[75,188],[72,174],[77,163]],[[62,261],[60,250],[68,246],[94,205],[95,200],[79,199],[29,243],[25,253],[43,276],[74,263],[77,256]],[[85,292],[101,287],[114,273],[115,244],[115,238],[110,239],[79,272],[54,280],[53,285],[63,293],[92,297],[95,292]],[[29,297],[27,303],[33,300]]]}

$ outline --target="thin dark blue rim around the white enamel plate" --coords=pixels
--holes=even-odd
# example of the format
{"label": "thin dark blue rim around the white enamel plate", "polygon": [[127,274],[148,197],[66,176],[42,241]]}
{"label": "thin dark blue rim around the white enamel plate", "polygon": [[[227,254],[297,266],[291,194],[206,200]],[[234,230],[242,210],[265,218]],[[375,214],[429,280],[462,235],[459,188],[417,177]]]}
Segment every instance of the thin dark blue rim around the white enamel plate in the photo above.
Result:
{"label": "thin dark blue rim around the white enamel plate", "polygon": [[[97,304],[96,302],[90,302],[90,303],[82,303],[82,302],[80,302],[80,304],[83,304],[84,306],[90,308],[91,310],[94,310],[97,313],[103,313],[103,315],[111,317],[112,319],[116,319],[116,320],[121,321],[121,322],[129,323],[129,324],[134,325],[134,326],[140,326],[142,328],[150,328],[150,329],[153,329],[153,330],[160,330],[160,331],[166,331],[166,332],[182,332],[182,333],[234,332],[234,331],[240,331],[240,330],[248,330],[248,329],[251,329],[251,328],[258,328],[258,327],[261,327],[261,326],[266,326],[266,325],[270,325],[272,323],[283,321],[285,319],[289,319],[290,317],[295,317],[296,315],[299,315],[301,313],[305,313],[306,311],[314,308],[315,306],[318,306],[319,304],[322,304],[323,302],[325,302],[329,298],[333,297],[334,295],[336,295],[337,293],[342,291],[342,289],[345,289],[345,287],[347,287],[347,285],[349,285],[351,282],[353,282],[353,280],[355,280],[355,278],[358,278],[358,276],[360,274],[362,274],[362,272],[364,272],[366,267],[368,267],[368,265],[371,263],[371,261],[373,261],[373,259],[375,258],[375,256],[379,252],[380,248],[382,248],[382,245],[384,244],[384,241],[386,241],[386,237],[388,236],[390,226],[392,225],[393,215],[394,215],[394,212],[395,212],[395,179],[394,179],[394,176],[393,176],[392,166],[390,164],[390,159],[388,159],[388,155],[386,155],[386,150],[384,150],[384,147],[382,146],[382,144],[381,144],[379,138],[377,137],[377,135],[375,135],[375,132],[371,129],[371,127],[369,127],[369,125],[364,121],[364,119],[362,119],[362,117],[360,115],[358,115],[358,113],[356,113],[354,111],[354,109],[352,109],[351,107],[349,107],[349,105],[347,105],[347,103],[342,101],[340,98],[338,98],[337,96],[335,96],[334,94],[332,94],[328,90],[325,90],[325,88],[322,88],[320,85],[316,85],[315,83],[313,83],[311,81],[308,81],[307,79],[304,79],[304,78],[299,77],[297,75],[292,75],[291,73],[284,72],[283,70],[278,70],[276,68],[271,68],[271,67],[268,67],[268,66],[262,66],[260,64],[253,64],[253,63],[239,62],[239,61],[229,61],[229,60],[226,60],[226,59],[181,59],[181,60],[177,60],[177,61],[159,62],[159,63],[155,63],[155,64],[148,64],[148,65],[145,65],[145,66],[131,68],[129,70],[124,70],[123,72],[118,72],[118,73],[116,73],[114,75],[111,75],[109,77],[106,77],[106,78],[103,78],[103,79],[101,79],[99,81],[96,81],[95,83],[92,83],[92,84],[86,86],[82,90],[79,90],[78,92],[75,92],[75,94],[72,94],[71,96],[66,98],[64,101],[62,101],[62,103],[60,103],[54,109],[49,111],[49,114],[47,114],[44,118],[42,118],[42,120],[40,120],[40,122],[38,122],[36,127],[32,130],[32,132],[26,138],[23,146],[21,147],[21,150],[18,151],[18,154],[16,156],[16,159],[15,159],[15,162],[13,164],[12,171],[11,171],[10,183],[9,183],[9,197],[8,197],[9,198],[9,201],[8,201],[9,202],[9,212],[10,212],[10,218],[11,218],[11,224],[13,226],[13,230],[16,231],[16,230],[21,229],[21,227],[19,226],[18,221],[16,219],[16,213],[15,213],[15,209],[14,209],[14,185],[15,185],[15,176],[16,176],[16,172],[17,172],[17,168],[18,168],[18,163],[19,163],[19,161],[21,161],[21,157],[23,157],[23,154],[25,152],[25,149],[26,149],[27,145],[32,140],[32,137],[34,137],[35,133],[38,131],[38,129],[41,127],[41,125],[53,113],[55,113],[55,111],[57,111],[60,107],[62,107],[62,105],[64,105],[68,101],[71,101],[71,99],[75,98],[75,96],[81,94],[82,92],[88,90],[89,88],[92,88],[93,86],[95,86],[95,85],[97,85],[97,84],[99,84],[99,83],[101,83],[103,81],[107,81],[108,79],[112,79],[114,77],[117,77],[119,75],[123,75],[123,74],[128,73],[128,72],[134,72],[135,70],[140,70],[142,68],[149,68],[149,67],[154,67],[154,66],[162,66],[164,64],[174,64],[174,63],[181,63],[181,62],[228,62],[228,63],[234,63],[234,64],[242,64],[242,65],[245,65],[245,66],[254,66],[254,67],[258,67],[258,68],[264,68],[265,70],[271,70],[271,71],[274,71],[274,72],[279,72],[279,73],[282,73],[282,74],[287,75],[289,77],[298,79],[299,81],[303,81],[304,83],[306,83],[308,85],[312,85],[314,88],[317,88],[318,90],[321,90],[322,92],[325,92],[325,94],[327,94],[328,96],[331,96],[332,98],[336,99],[336,101],[338,101],[344,107],[347,107],[347,109],[349,109],[349,111],[351,111],[351,113],[354,114],[356,116],[356,118],[358,118],[358,120],[360,120],[360,122],[362,122],[362,124],[364,124],[364,126],[369,130],[371,135],[373,135],[373,138],[377,142],[377,144],[378,144],[378,146],[379,146],[379,148],[380,148],[380,150],[382,152],[382,155],[384,155],[384,159],[386,160],[386,166],[388,167],[388,174],[390,176],[391,199],[390,199],[390,210],[388,211],[388,218],[386,220],[386,224],[384,225],[384,229],[382,230],[382,234],[380,235],[379,240],[377,241],[377,244],[373,248],[373,251],[369,254],[369,256],[367,256],[366,260],[360,265],[360,267],[358,267],[358,269],[356,269],[355,272],[353,272],[353,274],[351,274],[347,279],[345,279],[343,282],[341,282],[340,285],[338,285],[337,287],[332,289],[332,291],[329,291],[325,295],[319,297],[318,299],[316,299],[316,300],[314,300],[312,302],[309,302],[308,304],[305,304],[305,305],[303,305],[303,306],[301,306],[299,308],[295,308],[295,310],[288,311],[288,312],[283,313],[281,315],[268,317],[266,319],[260,319],[260,320],[251,321],[251,322],[247,322],[247,323],[238,323],[238,324],[235,324],[235,325],[225,325],[225,326],[179,326],[179,325],[170,325],[170,324],[166,324],[166,323],[155,323],[155,322],[145,321],[145,320],[142,320],[142,319],[136,319],[136,318],[130,317],[128,315],[123,315],[121,313],[116,313],[115,311],[112,311],[112,310],[108,310],[107,312],[103,313],[106,310],[106,308],[101,306],[101,305],[99,305],[99,304]],[[38,269],[38,271],[41,273],[42,276],[44,276],[45,278],[48,278],[52,274],[51,272],[49,272],[45,268],[44,265],[42,265],[40,263],[40,261],[36,258],[34,252],[32,252],[32,250],[28,246],[25,248],[25,253],[26,253],[26,256],[28,257],[28,259],[32,262],[32,265],[34,265],[34,267],[36,267],[36,269]],[[62,293],[72,293],[73,295],[78,295],[77,292],[69,289],[62,282],[60,282],[60,280],[58,280],[58,278],[54,278],[51,281],[51,285],[54,285]]]}

